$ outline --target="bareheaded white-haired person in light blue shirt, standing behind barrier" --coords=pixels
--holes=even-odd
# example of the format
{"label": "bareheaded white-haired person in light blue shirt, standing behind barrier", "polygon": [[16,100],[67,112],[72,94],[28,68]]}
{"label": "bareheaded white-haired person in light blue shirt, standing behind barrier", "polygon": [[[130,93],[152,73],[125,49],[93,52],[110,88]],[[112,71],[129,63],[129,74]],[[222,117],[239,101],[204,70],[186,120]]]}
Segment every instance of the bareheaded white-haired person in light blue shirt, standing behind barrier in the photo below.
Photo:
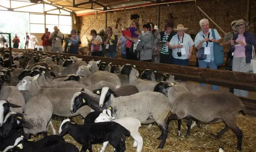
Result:
{"label": "bareheaded white-haired person in light blue shirt, standing behind barrier", "polygon": [[[207,68],[209,66],[210,69],[217,69],[217,65],[214,62],[214,43],[220,43],[220,35],[216,29],[214,29],[214,33],[209,28],[209,21],[204,18],[199,22],[200,27],[202,28],[199,33],[197,33],[195,38],[195,47],[197,50],[201,48],[205,48],[206,59],[198,60],[199,67]],[[215,39],[213,38],[213,34],[215,35]],[[197,56],[198,58],[198,56]],[[206,87],[206,84],[200,83],[203,87]],[[211,90],[219,90],[219,86],[211,85]]]}

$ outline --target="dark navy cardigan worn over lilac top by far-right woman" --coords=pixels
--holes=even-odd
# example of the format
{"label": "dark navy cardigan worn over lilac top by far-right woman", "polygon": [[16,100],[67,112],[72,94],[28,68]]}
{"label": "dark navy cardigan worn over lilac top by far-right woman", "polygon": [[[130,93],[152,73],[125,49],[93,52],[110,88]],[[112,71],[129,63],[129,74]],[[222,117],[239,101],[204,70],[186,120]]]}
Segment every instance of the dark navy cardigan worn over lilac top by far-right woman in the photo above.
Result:
{"label": "dark navy cardigan worn over lilac top by far-right woman", "polygon": [[[256,48],[256,39],[253,33],[249,31],[245,31],[243,36],[245,37],[246,47],[245,47],[245,62],[251,63],[252,60],[252,50],[253,46]],[[238,33],[236,33],[233,37],[235,41],[238,38]],[[231,51],[234,52],[235,47],[231,47]]]}

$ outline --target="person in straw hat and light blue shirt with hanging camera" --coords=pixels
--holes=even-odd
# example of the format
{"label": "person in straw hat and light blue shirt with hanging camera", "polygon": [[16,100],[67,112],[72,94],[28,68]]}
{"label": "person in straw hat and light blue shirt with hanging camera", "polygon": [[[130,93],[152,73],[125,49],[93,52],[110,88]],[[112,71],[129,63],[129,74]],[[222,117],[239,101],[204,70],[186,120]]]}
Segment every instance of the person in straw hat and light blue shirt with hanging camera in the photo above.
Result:
{"label": "person in straw hat and light blue shirt with hanging camera", "polygon": [[177,34],[172,37],[169,45],[172,49],[172,64],[188,66],[194,42],[190,35],[184,33],[187,29],[182,24],[174,28]]}

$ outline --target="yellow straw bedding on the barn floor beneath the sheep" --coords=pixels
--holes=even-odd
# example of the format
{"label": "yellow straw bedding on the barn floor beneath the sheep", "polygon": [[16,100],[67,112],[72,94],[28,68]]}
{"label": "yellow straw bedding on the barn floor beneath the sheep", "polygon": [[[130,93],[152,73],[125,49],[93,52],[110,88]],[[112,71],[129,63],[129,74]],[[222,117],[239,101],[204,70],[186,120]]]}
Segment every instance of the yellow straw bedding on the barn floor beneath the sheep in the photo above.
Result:
{"label": "yellow straw bedding on the barn floor beneath the sheep", "polygon": [[[209,85],[207,85],[208,88]],[[220,87],[220,90],[229,91],[229,88]],[[250,92],[249,97],[256,98],[255,92]],[[168,116],[171,114],[169,113]],[[168,118],[168,117],[167,117]],[[166,118],[166,120],[167,120]],[[78,123],[83,124],[82,116],[75,116],[72,119]],[[56,118],[52,120],[53,126],[56,130],[59,130],[61,125],[61,119]],[[236,151],[236,135],[229,130],[227,133],[222,135],[218,140],[215,139],[216,134],[225,127],[224,123],[210,124],[207,129],[204,129],[205,124],[202,124],[202,129],[196,126],[191,129],[191,135],[187,138],[187,121],[184,120],[181,126],[181,137],[176,137],[177,134],[177,121],[172,121],[169,125],[169,133],[166,139],[166,143],[162,150],[158,150],[159,141],[157,137],[161,135],[161,130],[155,123],[150,129],[147,129],[148,125],[142,125],[139,128],[139,132],[143,138],[143,149],[142,152],[216,152],[219,147],[223,147],[225,152]],[[254,152],[256,151],[256,117],[244,116],[239,114],[237,126],[243,131],[243,141],[242,141],[242,151],[244,152]],[[48,135],[51,135],[51,130],[49,128]],[[32,136],[32,139],[39,140],[43,138],[42,135],[37,137]],[[73,143],[81,150],[82,145],[77,143],[70,135],[64,136],[66,142]],[[133,148],[133,138],[126,138],[126,151],[136,152],[136,148]],[[93,151],[98,152],[102,148],[102,144],[93,145]],[[113,147],[108,145],[105,152],[113,151]]]}

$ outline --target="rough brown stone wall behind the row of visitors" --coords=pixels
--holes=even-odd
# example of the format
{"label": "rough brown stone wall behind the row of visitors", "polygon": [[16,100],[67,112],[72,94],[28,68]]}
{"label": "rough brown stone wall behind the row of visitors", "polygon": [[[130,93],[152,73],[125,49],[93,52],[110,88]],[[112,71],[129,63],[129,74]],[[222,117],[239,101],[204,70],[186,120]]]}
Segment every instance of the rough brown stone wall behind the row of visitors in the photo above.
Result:
{"label": "rough brown stone wall behind the row of visitors", "polygon": [[[214,22],[216,22],[226,33],[231,28],[230,24],[233,20],[243,18],[246,20],[247,14],[247,0],[200,0],[197,1],[197,5],[209,15]],[[139,14],[139,22],[141,26],[149,21],[157,24],[157,6],[144,7],[138,9],[126,10],[129,16],[131,14]],[[196,6],[195,2],[182,2],[182,3],[171,3],[169,5],[160,5],[160,26],[159,29],[163,30],[164,20],[168,19],[168,13],[173,13],[177,20],[174,20],[174,27],[178,24],[183,24],[188,27],[186,33],[191,34],[192,38],[200,30],[199,21],[203,18],[207,18]],[[124,10],[107,12],[107,26],[113,28],[115,34],[121,35],[122,27],[128,27],[130,25],[130,19]],[[256,16],[256,1],[252,1],[251,7],[251,18]],[[81,20],[81,34],[89,27],[95,18],[95,15],[87,15],[83,17],[77,17]],[[120,25],[115,29],[117,19],[120,18]],[[77,19],[77,20],[79,20]],[[210,21],[210,20],[209,20]],[[79,24],[79,23],[78,23]],[[105,13],[98,13],[98,17],[91,27],[86,31],[82,37],[82,47],[87,46],[86,37],[90,38],[89,31],[95,29],[99,31],[101,28],[105,29]],[[140,27],[142,28],[142,27]],[[210,28],[216,28],[221,35],[224,34],[217,26],[210,21]]]}

